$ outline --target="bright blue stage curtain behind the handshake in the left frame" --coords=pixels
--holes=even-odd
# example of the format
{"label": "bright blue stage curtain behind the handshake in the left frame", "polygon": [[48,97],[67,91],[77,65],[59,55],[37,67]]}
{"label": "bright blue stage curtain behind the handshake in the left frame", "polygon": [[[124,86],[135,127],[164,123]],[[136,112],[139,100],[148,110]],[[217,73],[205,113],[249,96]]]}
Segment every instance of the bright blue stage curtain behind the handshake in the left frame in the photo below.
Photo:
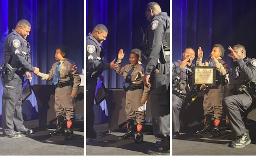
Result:
{"label": "bright blue stage curtain behind the handshake in the left frame", "polygon": [[[27,41],[31,45],[33,66],[48,73],[55,62],[55,48],[64,44],[69,47],[68,58],[76,63],[81,73],[84,68],[84,0],[1,0],[0,17],[0,62],[3,61],[5,37],[12,32],[20,19],[27,19],[31,23]],[[35,74],[32,76],[31,85],[51,84]],[[1,99],[2,92],[1,85]],[[35,95],[28,100],[38,110]],[[1,110],[2,100],[2,114]]]}

